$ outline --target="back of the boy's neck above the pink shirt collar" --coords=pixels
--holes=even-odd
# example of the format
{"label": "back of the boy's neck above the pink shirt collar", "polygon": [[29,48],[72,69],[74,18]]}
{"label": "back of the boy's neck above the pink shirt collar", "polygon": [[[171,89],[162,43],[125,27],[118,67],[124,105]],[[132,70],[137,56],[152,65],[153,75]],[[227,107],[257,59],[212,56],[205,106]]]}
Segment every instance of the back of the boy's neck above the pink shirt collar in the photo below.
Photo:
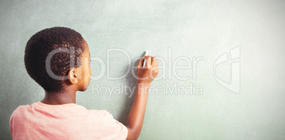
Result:
{"label": "back of the boy's neck above the pink shirt collar", "polygon": [[45,91],[45,98],[40,101],[48,105],[62,105],[67,103],[76,103],[76,91],[65,91],[62,93],[53,93]]}

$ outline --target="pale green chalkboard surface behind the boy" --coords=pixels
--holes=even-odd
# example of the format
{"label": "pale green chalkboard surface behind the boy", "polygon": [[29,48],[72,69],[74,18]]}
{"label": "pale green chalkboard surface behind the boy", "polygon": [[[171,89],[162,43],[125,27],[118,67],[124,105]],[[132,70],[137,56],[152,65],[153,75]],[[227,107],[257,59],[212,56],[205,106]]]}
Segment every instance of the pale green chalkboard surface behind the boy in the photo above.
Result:
{"label": "pale green chalkboard surface behind the boy", "polygon": [[[285,139],[285,1],[0,1],[0,138],[44,97],[23,62],[40,30],[77,30],[92,78],[77,104],[125,124],[135,67],[157,57],[139,139]],[[133,71],[133,73],[132,73]],[[119,90],[118,90],[119,89]]]}

